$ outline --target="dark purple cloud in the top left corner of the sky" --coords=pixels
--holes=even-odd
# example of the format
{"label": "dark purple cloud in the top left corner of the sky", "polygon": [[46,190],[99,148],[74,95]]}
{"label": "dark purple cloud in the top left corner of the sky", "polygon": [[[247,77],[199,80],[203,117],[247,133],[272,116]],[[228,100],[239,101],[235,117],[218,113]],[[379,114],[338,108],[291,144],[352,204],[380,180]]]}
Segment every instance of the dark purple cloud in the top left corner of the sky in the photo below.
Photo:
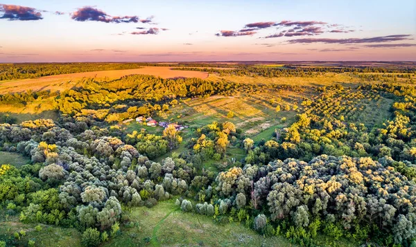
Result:
{"label": "dark purple cloud in the top left corner of the sky", "polygon": [[43,19],[41,10],[24,6],[0,4],[0,12],[4,12],[0,19],[8,19],[9,21],[37,21]]}

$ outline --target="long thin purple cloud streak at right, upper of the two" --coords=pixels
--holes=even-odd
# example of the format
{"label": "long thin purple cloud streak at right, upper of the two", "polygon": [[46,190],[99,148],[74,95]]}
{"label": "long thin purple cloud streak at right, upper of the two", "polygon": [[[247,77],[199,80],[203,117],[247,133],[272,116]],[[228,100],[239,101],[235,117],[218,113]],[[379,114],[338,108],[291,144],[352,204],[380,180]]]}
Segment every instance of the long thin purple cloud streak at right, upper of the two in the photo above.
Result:
{"label": "long thin purple cloud streak at right, upper of the two", "polygon": [[371,38],[349,38],[349,39],[327,39],[327,38],[305,38],[305,39],[292,39],[289,40],[290,44],[312,44],[312,43],[324,43],[324,44],[361,44],[361,43],[383,43],[383,42],[395,42],[400,40],[409,40],[411,35],[388,35],[381,37]]}

